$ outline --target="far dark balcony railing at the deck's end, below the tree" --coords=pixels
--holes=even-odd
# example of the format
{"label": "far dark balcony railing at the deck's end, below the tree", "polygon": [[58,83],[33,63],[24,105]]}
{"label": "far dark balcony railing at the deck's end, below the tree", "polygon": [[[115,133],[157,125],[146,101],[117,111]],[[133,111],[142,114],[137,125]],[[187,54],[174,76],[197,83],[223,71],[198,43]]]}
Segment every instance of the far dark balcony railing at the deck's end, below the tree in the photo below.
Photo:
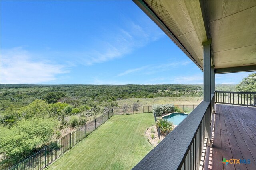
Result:
{"label": "far dark balcony railing at the deck's end, below the tree", "polygon": [[256,92],[215,92],[215,102],[222,104],[255,106]]}

